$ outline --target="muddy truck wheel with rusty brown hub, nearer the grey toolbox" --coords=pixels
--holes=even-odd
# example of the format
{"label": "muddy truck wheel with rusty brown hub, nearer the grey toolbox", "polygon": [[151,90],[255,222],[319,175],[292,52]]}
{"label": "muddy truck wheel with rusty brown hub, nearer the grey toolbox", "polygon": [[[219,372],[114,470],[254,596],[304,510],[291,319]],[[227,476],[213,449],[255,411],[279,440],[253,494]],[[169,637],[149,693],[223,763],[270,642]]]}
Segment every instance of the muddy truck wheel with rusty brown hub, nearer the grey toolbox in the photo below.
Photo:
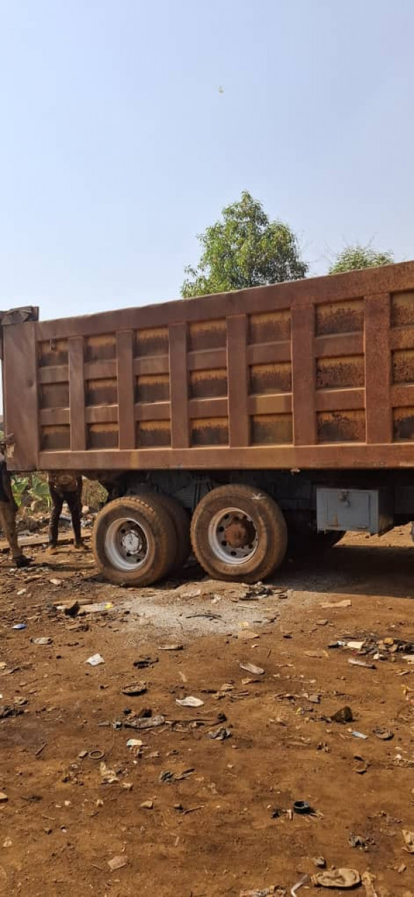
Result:
{"label": "muddy truck wheel with rusty brown hub, nearer the grey toolbox", "polygon": [[257,582],[283,561],[288,532],[269,495],[229,485],[211,490],[197,505],[191,541],[197,561],[214,579]]}

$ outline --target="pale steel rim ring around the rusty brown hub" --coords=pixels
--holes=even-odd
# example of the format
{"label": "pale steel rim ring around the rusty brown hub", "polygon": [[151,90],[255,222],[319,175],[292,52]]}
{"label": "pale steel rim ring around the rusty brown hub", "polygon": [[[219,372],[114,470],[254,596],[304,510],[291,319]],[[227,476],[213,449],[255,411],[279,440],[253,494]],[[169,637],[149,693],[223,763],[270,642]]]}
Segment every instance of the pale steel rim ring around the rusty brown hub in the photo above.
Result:
{"label": "pale steel rim ring around the rusty brown hub", "polygon": [[[226,528],[237,522],[251,529],[253,536],[243,546],[230,545],[226,539]],[[213,514],[208,529],[208,540],[216,558],[235,567],[251,561],[259,546],[259,536],[254,519],[241,508],[222,508]]]}

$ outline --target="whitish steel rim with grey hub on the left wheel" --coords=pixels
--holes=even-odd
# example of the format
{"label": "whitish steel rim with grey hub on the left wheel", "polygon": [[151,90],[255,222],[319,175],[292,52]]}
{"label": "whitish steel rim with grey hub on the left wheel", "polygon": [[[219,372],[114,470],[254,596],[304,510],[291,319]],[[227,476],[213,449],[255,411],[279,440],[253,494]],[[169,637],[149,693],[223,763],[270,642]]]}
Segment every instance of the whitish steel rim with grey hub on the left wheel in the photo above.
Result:
{"label": "whitish steel rim with grey hub on the left wheel", "polygon": [[105,553],[116,570],[127,573],[141,570],[150,551],[151,534],[142,520],[123,517],[109,524]]}

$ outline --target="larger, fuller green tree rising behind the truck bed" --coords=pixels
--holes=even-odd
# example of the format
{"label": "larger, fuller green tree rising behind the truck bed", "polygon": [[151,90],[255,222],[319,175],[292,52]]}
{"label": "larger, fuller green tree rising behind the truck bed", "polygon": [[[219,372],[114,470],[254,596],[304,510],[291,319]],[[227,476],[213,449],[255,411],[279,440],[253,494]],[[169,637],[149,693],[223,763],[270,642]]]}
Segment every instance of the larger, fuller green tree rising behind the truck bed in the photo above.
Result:
{"label": "larger, fuller green tree rising behind the truck bed", "polygon": [[202,256],[198,266],[185,268],[185,299],[306,276],[297,236],[288,224],[271,221],[246,191],[198,239]]}

